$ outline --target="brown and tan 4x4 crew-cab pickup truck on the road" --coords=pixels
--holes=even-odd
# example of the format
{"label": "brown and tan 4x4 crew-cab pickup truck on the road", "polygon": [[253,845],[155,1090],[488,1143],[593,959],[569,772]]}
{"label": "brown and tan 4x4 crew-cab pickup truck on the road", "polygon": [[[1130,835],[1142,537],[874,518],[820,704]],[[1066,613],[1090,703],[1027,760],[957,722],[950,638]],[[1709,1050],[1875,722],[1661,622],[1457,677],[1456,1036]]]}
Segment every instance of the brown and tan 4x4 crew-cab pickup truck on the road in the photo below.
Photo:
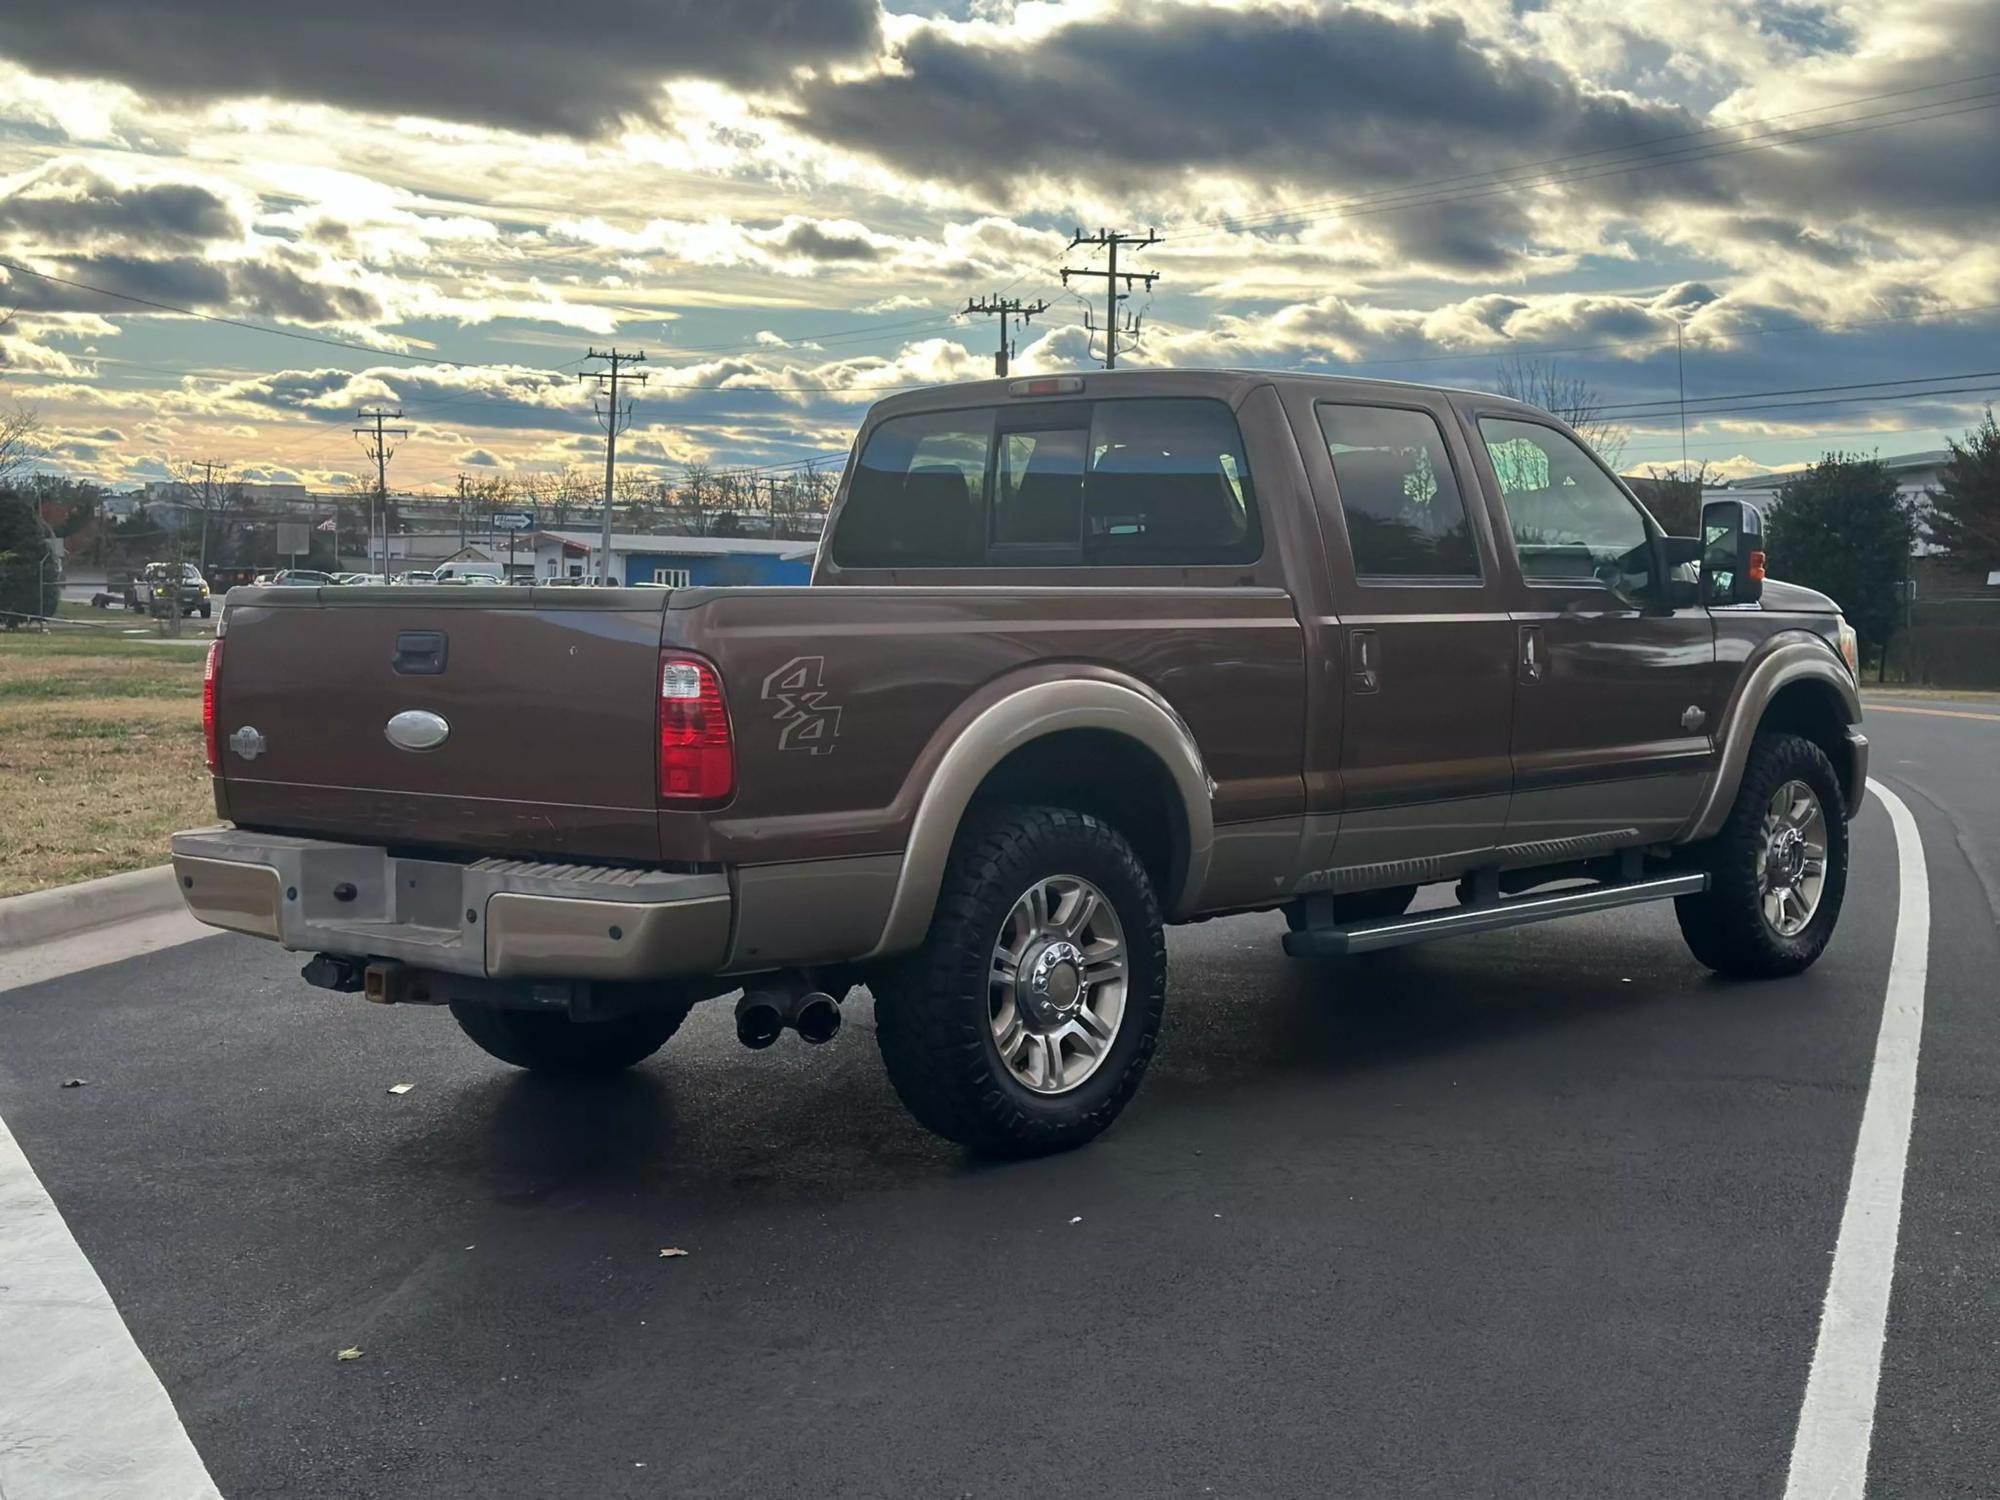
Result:
{"label": "brown and tan 4x4 crew-cab pickup truck on the road", "polygon": [[[1808,966],[1868,742],[1834,604],[1756,514],[1664,536],[1478,392],[1242,372],[894,396],[810,588],[238,588],[206,688],[206,922],[624,1068],[744,990],[752,1046],[874,992],[932,1130],[1072,1146],[1126,1104],[1164,926],[1302,958],[1674,898]],[[1438,886],[1416,902],[1424,886]]]}

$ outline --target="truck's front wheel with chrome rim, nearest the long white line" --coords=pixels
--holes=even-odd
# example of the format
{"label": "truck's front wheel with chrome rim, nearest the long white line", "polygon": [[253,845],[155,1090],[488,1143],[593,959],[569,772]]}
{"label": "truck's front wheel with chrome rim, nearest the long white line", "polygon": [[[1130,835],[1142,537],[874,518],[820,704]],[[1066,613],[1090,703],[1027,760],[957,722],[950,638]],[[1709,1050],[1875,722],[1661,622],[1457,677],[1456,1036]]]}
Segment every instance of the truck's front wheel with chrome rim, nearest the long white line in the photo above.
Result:
{"label": "truck's front wheel with chrome rim, nearest the long white line", "polygon": [[1674,900],[1694,956],[1748,980],[1810,968],[1848,888],[1848,806],[1826,752],[1796,734],[1758,734],[1728,822],[1700,856],[1708,890]]}

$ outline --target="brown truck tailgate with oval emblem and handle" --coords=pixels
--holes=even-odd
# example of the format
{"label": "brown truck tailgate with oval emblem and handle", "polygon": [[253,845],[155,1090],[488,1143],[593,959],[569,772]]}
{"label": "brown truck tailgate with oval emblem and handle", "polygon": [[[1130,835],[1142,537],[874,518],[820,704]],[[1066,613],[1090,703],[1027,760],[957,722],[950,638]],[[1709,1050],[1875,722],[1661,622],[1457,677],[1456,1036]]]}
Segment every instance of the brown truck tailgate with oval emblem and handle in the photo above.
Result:
{"label": "brown truck tailgate with oval emblem and handle", "polygon": [[[226,814],[356,842],[658,860],[664,602],[666,590],[238,590],[216,692]],[[442,742],[398,744],[390,720],[406,712],[438,716]],[[404,720],[398,736],[422,740],[426,726],[434,736],[430,720]]]}

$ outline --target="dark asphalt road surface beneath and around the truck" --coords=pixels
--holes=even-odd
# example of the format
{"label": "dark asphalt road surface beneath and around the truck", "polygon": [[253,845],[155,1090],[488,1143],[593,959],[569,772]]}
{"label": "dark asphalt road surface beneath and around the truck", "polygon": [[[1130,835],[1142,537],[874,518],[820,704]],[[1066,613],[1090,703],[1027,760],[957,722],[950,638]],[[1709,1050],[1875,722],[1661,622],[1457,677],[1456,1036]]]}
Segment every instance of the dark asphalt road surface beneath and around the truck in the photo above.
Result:
{"label": "dark asphalt road surface beneath and around the truck", "polygon": [[[1870,1494],[1990,1496],[2000,720],[1870,734],[1934,910]],[[862,996],[554,1086],[218,936],[0,994],[0,1116],[234,1498],[1776,1500],[1894,924],[1870,804],[1780,984],[1666,908],[1182,928],[1136,1104],[1012,1166],[902,1114]]]}

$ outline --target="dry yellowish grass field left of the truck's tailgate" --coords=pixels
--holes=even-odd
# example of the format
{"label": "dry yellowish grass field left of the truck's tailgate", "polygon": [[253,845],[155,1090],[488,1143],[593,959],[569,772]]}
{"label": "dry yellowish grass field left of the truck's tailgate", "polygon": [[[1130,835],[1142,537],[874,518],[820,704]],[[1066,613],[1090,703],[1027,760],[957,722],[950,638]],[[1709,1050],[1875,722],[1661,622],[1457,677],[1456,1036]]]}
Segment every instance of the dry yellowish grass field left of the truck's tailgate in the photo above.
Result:
{"label": "dry yellowish grass field left of the truck's tailgate", "polygon": [[214,820],[202,644],[0,634],[0,896],[166,860]]}

